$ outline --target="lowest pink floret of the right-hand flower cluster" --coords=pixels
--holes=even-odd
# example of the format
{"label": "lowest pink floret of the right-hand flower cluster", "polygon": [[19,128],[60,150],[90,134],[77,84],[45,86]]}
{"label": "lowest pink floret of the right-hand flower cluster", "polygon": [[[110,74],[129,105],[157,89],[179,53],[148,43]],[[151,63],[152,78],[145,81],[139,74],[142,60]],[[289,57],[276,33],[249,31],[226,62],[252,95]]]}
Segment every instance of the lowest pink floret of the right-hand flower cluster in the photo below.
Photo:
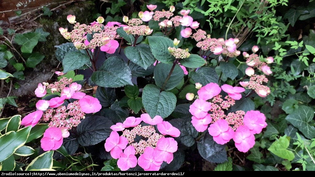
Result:
{"label": "lowest pink floret of the right-hand flower cluster", "polygon": [[255,145],[255,136],[245,125],[241,125],[236,129],[233,140],[235,147],[241,152],[247,152]]}

